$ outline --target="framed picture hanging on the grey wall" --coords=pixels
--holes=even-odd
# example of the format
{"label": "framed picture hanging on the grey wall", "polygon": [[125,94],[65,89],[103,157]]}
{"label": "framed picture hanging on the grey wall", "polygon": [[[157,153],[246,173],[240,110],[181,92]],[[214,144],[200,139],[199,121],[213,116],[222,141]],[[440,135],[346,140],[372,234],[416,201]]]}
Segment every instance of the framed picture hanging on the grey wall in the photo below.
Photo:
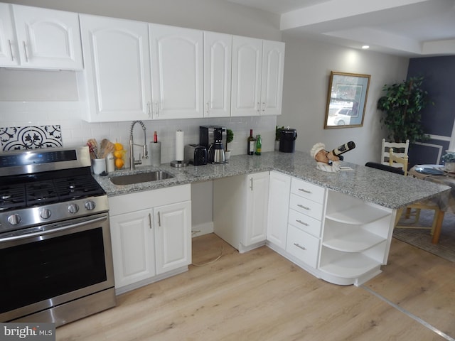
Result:
{"label": "framed picture hanging on the grey wall", "polygon": [[370,77],[330,72],[324,129],[363,126]]}

